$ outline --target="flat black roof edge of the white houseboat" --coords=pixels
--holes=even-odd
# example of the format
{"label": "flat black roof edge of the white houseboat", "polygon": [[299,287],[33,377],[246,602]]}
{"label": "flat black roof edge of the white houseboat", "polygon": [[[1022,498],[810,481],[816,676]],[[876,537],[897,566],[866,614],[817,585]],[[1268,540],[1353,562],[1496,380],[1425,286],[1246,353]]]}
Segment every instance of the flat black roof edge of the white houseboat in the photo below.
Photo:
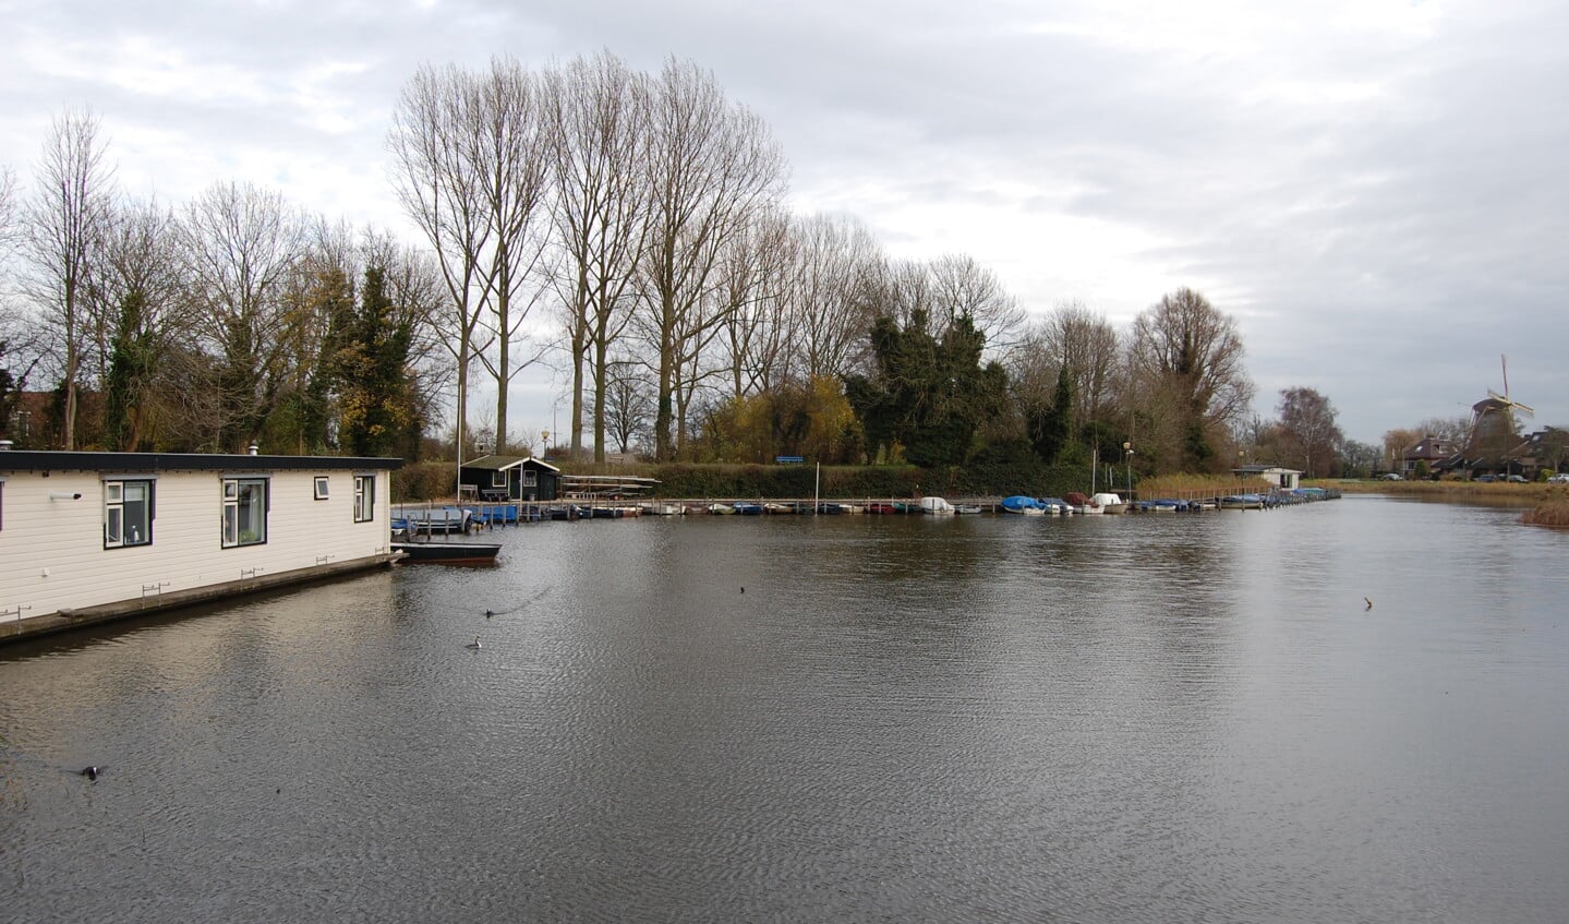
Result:
{"label": "flat black roof edge of the white houseboat", "polygon": [[353,455],[248,455],[196,452],[0,452],[3,472],[232,472],[400,469],[400,458]]}

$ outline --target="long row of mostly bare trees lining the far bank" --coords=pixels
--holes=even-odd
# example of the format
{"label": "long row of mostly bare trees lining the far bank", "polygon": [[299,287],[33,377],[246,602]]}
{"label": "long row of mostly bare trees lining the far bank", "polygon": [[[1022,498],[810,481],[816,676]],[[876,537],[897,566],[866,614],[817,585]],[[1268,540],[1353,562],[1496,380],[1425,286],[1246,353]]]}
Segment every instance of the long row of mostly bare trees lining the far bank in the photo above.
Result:
{"label": "long row of mostly bare trees lining the far bank", "polygon": [[1199,292],[1127,329],[1032,314],[973,257],[894,260],[854,216],[791,213],[766,122],[689,61],[425,66],[388,149],[417,245],[235,180],[137,201],[97,116],[56,118],[31,188],[0,176],[0,424],[16,438],[17,392],[47,383],[66,449],[417,458],[450,406],[447,441],[533,450],[508,391],[548,362],[551,436],[582,458],[1224,471],[1269,431],[1315,474],[1338,461],[1312,389],[1249,419],[1238,325]]}

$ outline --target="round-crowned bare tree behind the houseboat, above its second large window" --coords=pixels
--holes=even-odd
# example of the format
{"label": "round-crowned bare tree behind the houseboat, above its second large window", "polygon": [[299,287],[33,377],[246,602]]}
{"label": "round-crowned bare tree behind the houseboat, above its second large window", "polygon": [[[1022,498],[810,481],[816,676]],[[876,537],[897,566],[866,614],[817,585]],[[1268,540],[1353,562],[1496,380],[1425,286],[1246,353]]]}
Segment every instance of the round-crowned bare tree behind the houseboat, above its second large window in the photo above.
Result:
{"label": "round-crowned bare tree behind the houseboat, above its second large window", "polygon": [[218,444],[240,452],[260,436],[287,381],[287,298],[306,254],[304,218],[281,193],[215,184],[185,209],[182,256],[196,329],[220,356]]}

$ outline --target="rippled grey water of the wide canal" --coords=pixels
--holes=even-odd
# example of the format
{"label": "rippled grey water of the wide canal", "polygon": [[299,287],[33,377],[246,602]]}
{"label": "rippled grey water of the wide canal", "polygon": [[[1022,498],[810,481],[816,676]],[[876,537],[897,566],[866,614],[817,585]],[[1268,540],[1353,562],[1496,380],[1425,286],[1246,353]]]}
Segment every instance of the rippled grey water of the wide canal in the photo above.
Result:
{"label": "rippled grey water of the wide canal", "polygon": [[1560,921],[1516,515],[540,524],[0,649],[0,919]]}

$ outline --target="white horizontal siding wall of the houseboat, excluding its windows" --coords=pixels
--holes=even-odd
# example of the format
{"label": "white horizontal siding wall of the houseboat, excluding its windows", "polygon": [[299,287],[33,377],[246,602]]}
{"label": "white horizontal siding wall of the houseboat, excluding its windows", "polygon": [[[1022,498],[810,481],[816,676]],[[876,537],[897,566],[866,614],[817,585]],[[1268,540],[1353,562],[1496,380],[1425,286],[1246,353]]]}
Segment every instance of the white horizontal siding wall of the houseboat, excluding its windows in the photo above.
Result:
{"label": "white horizontal siding wall of the houseboat, excluding its windows", "polygon": [[[0,486],[0,613],[16,620],[127,599],[144,585],[163,591],[238,580],[253,568],[278,576],[323,560],[348,562],[389,549],[389,472],[375,472],[377,508],[370,522],[355,522],[355,475],[334,472],[271,474],[267,543],[223,547],[221,472],[155,472],[152,544],[104,547],[104,482],[122,475],[97,472],[8,472]],[[228,472],[249,477],[264,472]],[[326,475],[329,496],[314,499],[315,475]],[[80,493],[80,500],[50,499]],[[151,591],[149,591],[151,593]]]}

